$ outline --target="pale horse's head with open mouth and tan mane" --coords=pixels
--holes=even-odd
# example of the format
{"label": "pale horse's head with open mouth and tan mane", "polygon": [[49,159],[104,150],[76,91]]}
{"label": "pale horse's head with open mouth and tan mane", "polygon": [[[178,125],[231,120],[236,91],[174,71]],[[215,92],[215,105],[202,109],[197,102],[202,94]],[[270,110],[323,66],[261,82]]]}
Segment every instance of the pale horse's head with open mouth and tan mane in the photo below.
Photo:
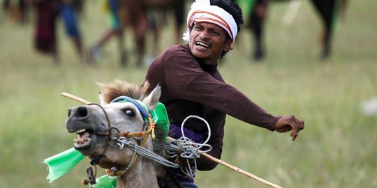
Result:
{"label": "pale horse's head with open mouth and tan mane", "polygon": [[[91,159],[100,159],[99,165],[106,169],[113,166],[121,169],[130,164],[133,151],[129,148],[119,150],[117,140],[113,138],[119,132],[146,131],[149,123],[140,109],[144,105],[138,106],[137,103],[141,101],[148,111],[154,110],[161,95],[161,87],[157,86],[145,97],[148,84],[145,85],[137,88],[121,81],[102,85],[104,92],[100,95],[101,105],[89,104],[68,109],[66,128],[69,133],[78,134],[74,148]],[[127,86],[131,86],[131,90]],[[120,95],[130,98],[119,98]],[[135,142],[140,139],[135,139]],[[152,149],[150,136],[144,147]]]}

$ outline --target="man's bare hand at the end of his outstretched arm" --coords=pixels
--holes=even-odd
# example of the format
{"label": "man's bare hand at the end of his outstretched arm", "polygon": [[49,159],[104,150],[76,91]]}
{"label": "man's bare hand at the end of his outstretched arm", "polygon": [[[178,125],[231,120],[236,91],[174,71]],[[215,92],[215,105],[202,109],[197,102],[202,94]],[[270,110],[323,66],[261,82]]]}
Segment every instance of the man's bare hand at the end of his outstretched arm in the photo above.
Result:
{"label": "man's bare hand at the end of his outstretched arm", "polygon": [[290,130],[293,130],[293,132],[290,133],[292,141],[295,141],[298,132],[303,129],[304,121],[295,118],[295,116],[282,116],[275,125],[275,130],[277,132],[288,132]]}

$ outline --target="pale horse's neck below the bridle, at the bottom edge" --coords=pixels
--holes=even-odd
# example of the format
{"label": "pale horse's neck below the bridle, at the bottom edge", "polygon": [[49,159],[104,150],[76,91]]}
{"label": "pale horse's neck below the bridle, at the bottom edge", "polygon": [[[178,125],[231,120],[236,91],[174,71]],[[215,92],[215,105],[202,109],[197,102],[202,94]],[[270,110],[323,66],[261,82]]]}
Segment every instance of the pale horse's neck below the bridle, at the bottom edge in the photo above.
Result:
{"label": "pale horse's neck below the bridle, at the bottom edge", "polygon": [[117,187],[158,187],[154,162],[139,156],[131,169],[117,179]]}

